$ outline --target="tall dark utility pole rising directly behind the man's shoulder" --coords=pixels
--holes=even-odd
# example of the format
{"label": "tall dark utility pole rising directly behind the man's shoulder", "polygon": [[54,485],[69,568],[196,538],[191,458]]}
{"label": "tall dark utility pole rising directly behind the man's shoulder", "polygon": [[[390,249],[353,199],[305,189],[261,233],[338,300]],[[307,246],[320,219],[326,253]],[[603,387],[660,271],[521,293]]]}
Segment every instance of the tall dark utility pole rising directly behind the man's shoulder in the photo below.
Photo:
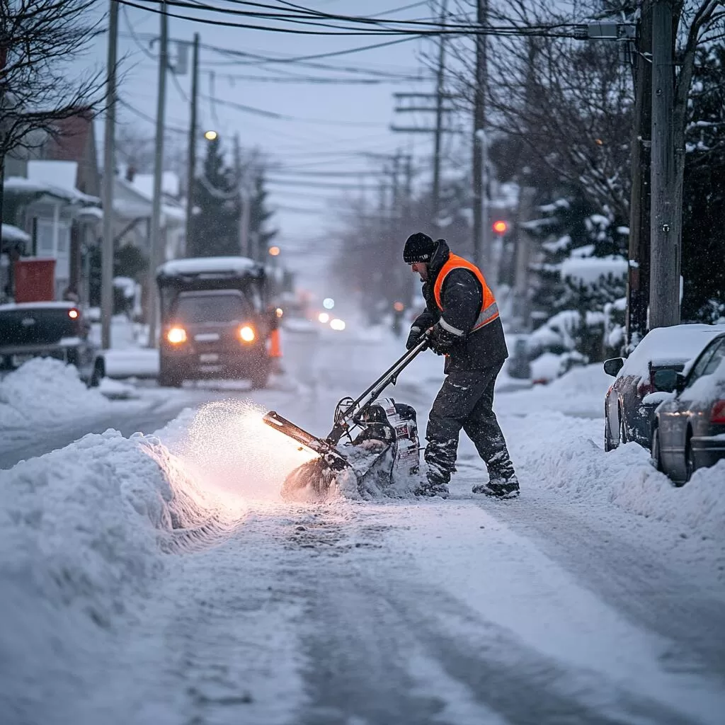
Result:
{"label": "tall dark utility pole rising directly behind the man's shoulder", "polygon": [[[476,22],[488,22],[488,0],[477,0]],[[486,174],[486,36],[476,36],[476,78],[473,88],[473,262],[479,269],[489,266],[488,180]]]}

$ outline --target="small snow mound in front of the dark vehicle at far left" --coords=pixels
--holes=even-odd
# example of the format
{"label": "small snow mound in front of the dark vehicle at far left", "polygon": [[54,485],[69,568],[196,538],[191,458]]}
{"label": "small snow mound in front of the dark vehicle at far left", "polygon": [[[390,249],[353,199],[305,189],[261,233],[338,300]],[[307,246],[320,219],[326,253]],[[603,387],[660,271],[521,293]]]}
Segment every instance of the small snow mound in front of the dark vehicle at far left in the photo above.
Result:
{"label": "small snow mound in front of the dark vehicle at far left", "polygon": [[33,357],[0,380],[0,427],[25,428],[102,413],[112,403],[86,387],[78,369],[50,357]]}

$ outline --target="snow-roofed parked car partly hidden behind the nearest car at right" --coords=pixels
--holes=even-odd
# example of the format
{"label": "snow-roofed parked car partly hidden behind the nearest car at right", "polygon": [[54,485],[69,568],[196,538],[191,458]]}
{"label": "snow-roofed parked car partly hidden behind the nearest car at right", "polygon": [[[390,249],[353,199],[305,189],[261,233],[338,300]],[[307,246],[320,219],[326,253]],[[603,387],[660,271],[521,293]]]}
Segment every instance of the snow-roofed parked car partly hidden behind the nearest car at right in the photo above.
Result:
{"label": "snow-roofed parked car partly hidden behind the nearest car at right", "polygon": [[650,449],[655,410],[661,398],[655,376],[659,370],[682,372],[725,325],[676,325],[645,335],[629,357],[605,360],[604,370],[616,376],[604,402],[605,450],[634,441]]}

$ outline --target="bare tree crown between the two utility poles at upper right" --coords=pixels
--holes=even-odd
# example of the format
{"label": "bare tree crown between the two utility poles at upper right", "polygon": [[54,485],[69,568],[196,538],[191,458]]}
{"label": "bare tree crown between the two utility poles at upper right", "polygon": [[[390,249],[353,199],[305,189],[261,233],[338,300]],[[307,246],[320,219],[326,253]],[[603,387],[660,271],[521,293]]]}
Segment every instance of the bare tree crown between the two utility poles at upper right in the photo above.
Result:
{"label": "bare tree crown between the two utility poles at upper right", "polygon": [[[572,17],[573,7],[557,7],[548,0],[489,2],[493,25],[521,28],[516,36],[489,38],[489,130],[508,138],[539,178],[579,186],[593,204],[625,219],[634,100],[629,69],[619,61],[615,43],[582,43],[552,27],[581,21],[581,12],[592,17],[602,3],[579,3],[579,17]],[[552,32],[528,35],[533,26],[550,26]],[[475,78],[470,41],[459,43],[454,54],[457,91],[470,102]]]}

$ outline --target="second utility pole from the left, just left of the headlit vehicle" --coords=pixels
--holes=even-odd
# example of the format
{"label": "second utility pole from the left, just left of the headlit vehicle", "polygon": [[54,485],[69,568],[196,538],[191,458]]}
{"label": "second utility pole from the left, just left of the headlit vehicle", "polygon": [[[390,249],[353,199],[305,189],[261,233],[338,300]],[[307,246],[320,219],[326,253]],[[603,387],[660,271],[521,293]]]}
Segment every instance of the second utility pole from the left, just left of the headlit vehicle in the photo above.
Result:
{"label": "second utility pole from the left, just left of the headlit vehicle", "polygon": [[[156,347],[156,268],[162,255],[161,199],[164,170],[164,112],[166,106],[166,69],[168,65],[169,26],[166,1],[161,3],[161,42],[159,44],[159,88],[156,109],[156,149],[154,154],[154,199],[151,210],[151,238],[149,239],[149,347]],[[164,250],[165,251],[165,250]]]}

